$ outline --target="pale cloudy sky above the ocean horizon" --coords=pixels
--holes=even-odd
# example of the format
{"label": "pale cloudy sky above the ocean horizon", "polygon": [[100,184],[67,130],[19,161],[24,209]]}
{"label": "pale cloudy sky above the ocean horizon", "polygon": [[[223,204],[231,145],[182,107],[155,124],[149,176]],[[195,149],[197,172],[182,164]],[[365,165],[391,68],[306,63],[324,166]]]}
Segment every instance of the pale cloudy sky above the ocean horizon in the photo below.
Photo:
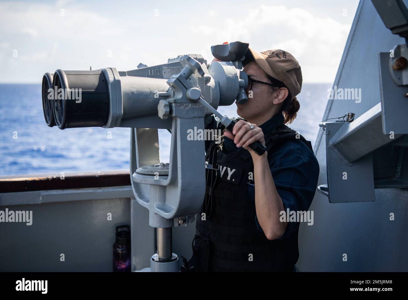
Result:
{"label": "pale cloudy sky above the ocean horizon", "polygon": [[202,54],[222,42],[295,56],[303,82],[333,82],[358,0],[0,1],[0,83],[45,72],[119,71]]}

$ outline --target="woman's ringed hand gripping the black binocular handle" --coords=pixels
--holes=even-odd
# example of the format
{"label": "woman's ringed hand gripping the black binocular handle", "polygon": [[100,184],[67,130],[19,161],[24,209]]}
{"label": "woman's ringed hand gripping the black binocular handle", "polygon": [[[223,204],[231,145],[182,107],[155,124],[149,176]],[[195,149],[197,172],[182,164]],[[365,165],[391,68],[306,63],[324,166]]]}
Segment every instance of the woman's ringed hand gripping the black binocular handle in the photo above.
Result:
{"label": "woman's ringed hand gripping the black binocular handle", "polygon": [[[253,125],[252,130],[251,125]],[[251,153],[251,156],[253,157],[254,155],[255,157],[258,155],[251,148],[249,148],[249,145],[256,141],[265,144],[265,138],[262,129],[257,127],[256,124],[251,124],[250,122],[246,122],[244,120],[239,120],[234,125],[232,132],[225,131],[224,136],[230,138],[231,140],[234,140],[234,143],[236,144],[237,147],[244,147],[244,149],[248,150],[249,153]],[[262,156],[266,156],[267,154],[265,153]]]}

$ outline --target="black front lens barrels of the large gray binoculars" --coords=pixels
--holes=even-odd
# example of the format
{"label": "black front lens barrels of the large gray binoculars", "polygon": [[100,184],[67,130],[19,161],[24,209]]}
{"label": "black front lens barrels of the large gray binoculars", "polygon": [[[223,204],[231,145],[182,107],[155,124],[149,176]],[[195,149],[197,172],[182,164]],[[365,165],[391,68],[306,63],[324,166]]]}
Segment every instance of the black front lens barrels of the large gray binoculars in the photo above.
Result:
{"label": "black front lens barrels of the large gray binoculars", "polygon": [[41,89],[49,127],[101,127],[109,118],[108,84],[101,70],[45,73]]}

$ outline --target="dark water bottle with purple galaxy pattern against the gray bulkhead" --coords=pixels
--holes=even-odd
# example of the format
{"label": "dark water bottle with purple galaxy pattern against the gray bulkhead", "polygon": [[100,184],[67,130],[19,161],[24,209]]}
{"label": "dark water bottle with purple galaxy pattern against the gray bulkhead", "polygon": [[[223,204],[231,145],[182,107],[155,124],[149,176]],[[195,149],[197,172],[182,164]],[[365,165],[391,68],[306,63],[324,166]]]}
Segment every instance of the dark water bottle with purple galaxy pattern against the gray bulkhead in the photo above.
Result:
{"label": "dark water bottle with purple galaxy pattern against the gray bulkhead", "polygon": [[129,225],[116,226],[116,242],[113,244],[113,272],[130,272],[130,258]]}

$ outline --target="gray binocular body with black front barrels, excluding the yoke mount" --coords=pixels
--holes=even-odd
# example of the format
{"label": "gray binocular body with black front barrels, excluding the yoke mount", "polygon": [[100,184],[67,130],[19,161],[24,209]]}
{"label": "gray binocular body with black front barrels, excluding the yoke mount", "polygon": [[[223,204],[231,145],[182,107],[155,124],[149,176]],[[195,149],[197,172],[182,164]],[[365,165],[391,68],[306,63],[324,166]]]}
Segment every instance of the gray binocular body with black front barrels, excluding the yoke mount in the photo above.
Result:
{"label": "gray binocular body with black front barrels, excluding the yoke mount", "polygon": [[[72,127],[143,127],[171,129],[169,103],[191,103],[183,91],[171,83],[171,77],[183,69],[193,69],[189,82],[201,90],[202,97],[214,109],[231,105],[236,99],[247,100],[244,88],[248,78],[237,69],[237,62],[213,62],[209,66],[201,55],[189,57],[198,68],[183,61],[183,56],[167,64],[117,71],[106,68],[94,71],[57,70],[42,80],[42,102],[47,125],[60,129]],[[183,65],[184,64],[184,65]],[[199,75],[197,69],[203,72]],[[51,91],[52,90],[52,91]],[[160,114],[160,115],[159,115]],[[205,114],[211,114],[206,109]]]}

